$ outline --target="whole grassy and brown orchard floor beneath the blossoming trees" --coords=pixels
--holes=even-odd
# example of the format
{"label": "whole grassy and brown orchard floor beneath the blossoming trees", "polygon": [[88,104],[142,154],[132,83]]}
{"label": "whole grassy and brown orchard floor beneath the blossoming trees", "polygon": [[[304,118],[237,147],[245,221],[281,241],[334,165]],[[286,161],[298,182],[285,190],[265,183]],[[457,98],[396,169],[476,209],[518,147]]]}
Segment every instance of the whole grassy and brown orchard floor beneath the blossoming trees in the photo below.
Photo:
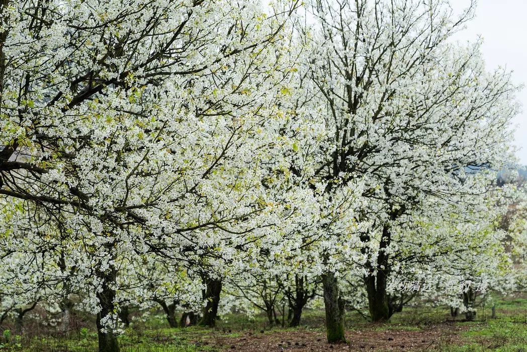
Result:
{"label": "whole grassy and brown orchard floor beneath the blossoming trees", "polygon": [[[324,311],[306,310],[299,328],[269,327],[265,316],[248,319],[229,315],[214,329],[169,328],[162,315],[135,319],[119,338],[123,352],[194,351],[527,351],[527,295],[496,299],[480,307],[475,321],[450,316],[448,307],[407,307],[385,324],[373,325],[357,312],[348,312],[347,345],[325,341]],[[97,336],[92,321],[77,316],[69,336],[52,335],[27,319],[25,334],[4,330],[1,350],[94,351]]]}

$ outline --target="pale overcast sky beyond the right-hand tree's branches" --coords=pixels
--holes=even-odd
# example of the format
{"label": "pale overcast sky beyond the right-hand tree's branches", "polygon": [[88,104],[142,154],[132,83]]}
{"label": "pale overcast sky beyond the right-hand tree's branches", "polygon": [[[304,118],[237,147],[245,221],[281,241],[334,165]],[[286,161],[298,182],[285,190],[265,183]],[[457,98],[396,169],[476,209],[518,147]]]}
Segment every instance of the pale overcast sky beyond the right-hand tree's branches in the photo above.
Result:
{"label": "pale overcast sky beyond the right-hand tree's branches", "polygon": [[[452,0],[455,11],[461,11],[470,0]],[[457,35],[460,41],[483,37],[483,57],[487,69],[504,66],[513,70],[513,81],[527,83],[527,0],[479,0],[476,17],[466,30]],[[518,94],[523,112],[516,117],[515,144],[522,148],[517,155],[527,165],[527,85]]]}

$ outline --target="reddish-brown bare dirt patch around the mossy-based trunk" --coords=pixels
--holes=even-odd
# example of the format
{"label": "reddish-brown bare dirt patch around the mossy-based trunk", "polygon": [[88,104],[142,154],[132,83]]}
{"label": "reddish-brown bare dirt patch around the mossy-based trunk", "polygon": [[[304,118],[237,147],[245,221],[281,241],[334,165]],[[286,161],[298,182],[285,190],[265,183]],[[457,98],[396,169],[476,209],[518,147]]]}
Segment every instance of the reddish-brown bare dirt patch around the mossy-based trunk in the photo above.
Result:
{"label": "reddish-brown bare dirt patch around the mossy-based trunk", "polygon": [[348,331],[348,344],[328,344],[324,331],[265,331],[241,333],[239,337],[216,335],[210,341],[214,347],[236,351],[428,351],[452,344],[464,327],[449,322],[430,325],[422,330],[377,329]]}

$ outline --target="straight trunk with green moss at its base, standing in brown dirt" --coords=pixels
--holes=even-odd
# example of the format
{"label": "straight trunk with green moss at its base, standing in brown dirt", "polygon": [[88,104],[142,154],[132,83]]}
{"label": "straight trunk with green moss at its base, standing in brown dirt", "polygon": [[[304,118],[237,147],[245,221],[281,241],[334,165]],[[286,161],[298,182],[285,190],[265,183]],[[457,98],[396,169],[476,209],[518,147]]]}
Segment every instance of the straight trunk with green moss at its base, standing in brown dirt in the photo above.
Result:
{"label": "straight trunk with green moss at its base, standing in brown dirt", "polygon": [[341,299],[334,272],[322,276],[324,306],[326,309],[326,333],[328,343],[346,343],[344,336],[344,301]]}

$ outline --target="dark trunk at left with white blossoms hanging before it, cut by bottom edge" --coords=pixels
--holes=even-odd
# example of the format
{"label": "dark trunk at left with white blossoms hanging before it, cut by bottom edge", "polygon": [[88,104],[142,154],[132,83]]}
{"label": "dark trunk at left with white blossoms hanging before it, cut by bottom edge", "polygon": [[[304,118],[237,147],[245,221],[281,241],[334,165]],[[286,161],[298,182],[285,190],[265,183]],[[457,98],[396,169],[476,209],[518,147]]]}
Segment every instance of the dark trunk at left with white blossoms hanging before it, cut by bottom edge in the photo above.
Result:
{"label": "dark trunk at left with white blossoms hanging before it, cut by bottom edge", "polygon": [[116,272],[111,270],[110,273],[100,273],[103,278],[102,291],[97,293],[97,299],[101,305],[101,310],[97,313],[96,326],[97,338],[99,339],[99,352],[119,352],[117,337],[111,327],[105,327],[102,319],[113,313],[115,290],[113,289]]}

